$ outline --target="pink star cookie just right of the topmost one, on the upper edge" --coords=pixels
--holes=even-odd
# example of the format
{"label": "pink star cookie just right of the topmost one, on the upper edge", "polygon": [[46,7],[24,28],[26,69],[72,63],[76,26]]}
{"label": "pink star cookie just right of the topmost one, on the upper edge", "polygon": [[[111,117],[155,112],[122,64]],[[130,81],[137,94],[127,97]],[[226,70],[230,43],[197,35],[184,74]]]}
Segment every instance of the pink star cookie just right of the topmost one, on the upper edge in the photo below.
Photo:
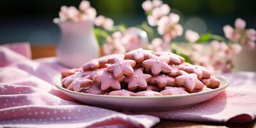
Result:
{"label": "pink star cookie just right of the topmost one, on the upper edge", "polygon": [[156,54],[157,56],[168,56],[168,58],[170,58],[170,64],[173,64],[173,65],[179,65],[180,63],[183,63],[185,61],[184,58],[182,58],[177,54],[173,54],[172,52],[162,51],[162,52],[155,52],[154,54]]}

